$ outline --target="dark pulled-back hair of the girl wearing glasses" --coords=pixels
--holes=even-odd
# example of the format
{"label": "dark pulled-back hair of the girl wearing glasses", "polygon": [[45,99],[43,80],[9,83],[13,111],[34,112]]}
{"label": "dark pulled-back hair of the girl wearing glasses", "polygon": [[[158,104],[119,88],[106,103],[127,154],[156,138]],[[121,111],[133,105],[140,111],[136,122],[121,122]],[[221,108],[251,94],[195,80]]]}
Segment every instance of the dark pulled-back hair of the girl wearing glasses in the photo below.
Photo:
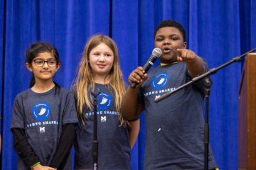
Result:
{"label": "dark pulled-back hair of the girl wearing glasses", "polygon": [[[26,62],[28,62],[28,64],[31,64],[32,60],[42,52],[49,52],[51,55],[53,55],[53,57],[57,61],[57,64],[60,63],[60,66],[63,67],[63,64],[60,62],[60,58],[59,58],[57,49],[53,45],[51,45],[47,42],[36,42],[36,43],[33,43],[30,47],[28,47],[28,50],[26,51]],[[35,85],[35,83],[36,83],[36,79],[32,72],[30,83],[29,83],[29,88],[33,87],[33,85]],[[60,89],[60,86],[54,81],[53,81],[53,83],[57,87],[55,89],[55,93],[56,93],[57,89]]]}

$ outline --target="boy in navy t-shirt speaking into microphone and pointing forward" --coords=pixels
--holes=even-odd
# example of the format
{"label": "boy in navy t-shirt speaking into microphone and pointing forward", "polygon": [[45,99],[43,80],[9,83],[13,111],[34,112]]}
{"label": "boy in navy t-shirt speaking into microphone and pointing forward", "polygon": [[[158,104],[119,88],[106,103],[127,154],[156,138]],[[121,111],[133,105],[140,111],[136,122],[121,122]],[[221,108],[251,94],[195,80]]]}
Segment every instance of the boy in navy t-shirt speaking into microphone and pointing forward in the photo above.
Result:
{"label": "boy in navy t-shirt speaking into microphone and pointing forward", "polygon": [[[186,50],[186,32],[180,23],[166,20],[154,32],[154,46],[162,50],[161,65],[138,67],[129,75],[131,86],[122,101],[126,120],[145,110],[144,169],[203,169],[203,82],[187,86],[159,103],[154,99],[208,71],[206,60]],[[142,78],[141,78],[142,77]],[[209,169],[217,164],[209,147]]]}

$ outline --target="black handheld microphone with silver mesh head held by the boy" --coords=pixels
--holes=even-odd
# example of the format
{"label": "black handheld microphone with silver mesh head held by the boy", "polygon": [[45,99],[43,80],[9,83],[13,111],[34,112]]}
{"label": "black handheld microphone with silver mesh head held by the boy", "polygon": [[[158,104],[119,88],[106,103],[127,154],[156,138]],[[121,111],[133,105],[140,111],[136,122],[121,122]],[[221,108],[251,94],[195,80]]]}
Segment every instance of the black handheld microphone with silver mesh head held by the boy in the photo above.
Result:
{"label": "black handheld microphone with silver mesh head held by the boy", "polygon": [[[156,61],[156,59],[157,59],[158,57],[160,57],[160,56],[161,56],[161,49],[160,49],[160,48],[155,48],[155,49],[153,50],[153,52],[152,52],[152,55],[149,57],[149,60],[147,60],[146,64],[144,64],[143,69],[144,69],[145,73],[146,73],[147,71],[149,71],[150,67],[154,64],[154,62]],[[144,73],[144,74],[145,74],[145,73]],[[139,83],[137,83],[137,82],[133,82],[132,85],[131,85],[131,87],[134,89],[138,84],[139,84]]]}

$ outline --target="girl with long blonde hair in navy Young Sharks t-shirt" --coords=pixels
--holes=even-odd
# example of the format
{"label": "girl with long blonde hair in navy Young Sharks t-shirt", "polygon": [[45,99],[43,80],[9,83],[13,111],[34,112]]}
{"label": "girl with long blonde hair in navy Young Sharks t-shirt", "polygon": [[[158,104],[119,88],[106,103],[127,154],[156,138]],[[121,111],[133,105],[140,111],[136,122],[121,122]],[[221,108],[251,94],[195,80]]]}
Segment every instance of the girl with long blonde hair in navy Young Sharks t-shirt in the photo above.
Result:
{"label": "girl with long blonde hair in navy Young Sharks t-shirt", "polygon": [[97,96],[98,169],[131,169],[130,151],[139,133],[139,118],[126,122],[121,103],[127,89],[119,67],[117,45],[105,35],[94,35],[85,45],[73,94],[78,114],[74,169],[92,169],[93,106]]}

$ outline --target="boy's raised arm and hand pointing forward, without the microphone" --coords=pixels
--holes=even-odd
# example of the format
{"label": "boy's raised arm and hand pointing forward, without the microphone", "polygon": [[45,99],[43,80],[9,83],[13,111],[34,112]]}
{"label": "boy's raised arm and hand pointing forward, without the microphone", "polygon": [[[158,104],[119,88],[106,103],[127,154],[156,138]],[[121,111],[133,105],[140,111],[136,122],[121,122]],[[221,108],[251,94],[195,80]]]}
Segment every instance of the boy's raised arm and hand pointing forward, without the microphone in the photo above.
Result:
{"label": "boy's raised arm and hand pointing forward, without the microphone", "polygon": [[177,49],[178,62],[186,62],[188,73],[192,78],[197,77],[206,72],[206,67],[203,64],[201,57],[195,54],[195,52],[187,49]]}

